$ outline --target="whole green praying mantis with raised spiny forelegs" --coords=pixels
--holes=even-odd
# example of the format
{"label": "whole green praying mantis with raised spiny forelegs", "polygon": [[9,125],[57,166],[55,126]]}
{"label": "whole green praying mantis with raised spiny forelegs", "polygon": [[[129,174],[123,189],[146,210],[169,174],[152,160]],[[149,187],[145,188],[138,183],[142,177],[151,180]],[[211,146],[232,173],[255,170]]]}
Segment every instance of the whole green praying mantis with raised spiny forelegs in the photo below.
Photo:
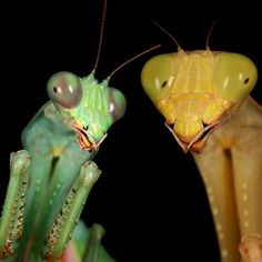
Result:
{"label": "whole green praying mantis with raised spiny forelegs", "polygon": [[[107,1],[103,20],[105,9]],[[103,22],[92,72],[79,78],[63,71],[50,78],[50,101],[23,130],[24,149],[11,154],[0,260],[113,261],[99,243],[103,228],[94,224],[88,231],[78,223],[101,173],[91,160],[108,129],[125,111],[124,95],[108,87],[112,73],[102,82],[94,78],[102,31]]]}

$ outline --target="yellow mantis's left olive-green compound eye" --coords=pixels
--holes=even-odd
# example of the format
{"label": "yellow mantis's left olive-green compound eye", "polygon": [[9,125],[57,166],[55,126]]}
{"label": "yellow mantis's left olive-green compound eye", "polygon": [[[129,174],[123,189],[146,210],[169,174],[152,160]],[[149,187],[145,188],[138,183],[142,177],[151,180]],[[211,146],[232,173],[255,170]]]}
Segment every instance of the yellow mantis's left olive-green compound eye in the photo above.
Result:
{"label": "yellow mantis's left olive-green compound eye", "polygon": [[173,79],[173,54],[160,54],[150,59],[141,73],[142,87],[153,103],[165,95]]}

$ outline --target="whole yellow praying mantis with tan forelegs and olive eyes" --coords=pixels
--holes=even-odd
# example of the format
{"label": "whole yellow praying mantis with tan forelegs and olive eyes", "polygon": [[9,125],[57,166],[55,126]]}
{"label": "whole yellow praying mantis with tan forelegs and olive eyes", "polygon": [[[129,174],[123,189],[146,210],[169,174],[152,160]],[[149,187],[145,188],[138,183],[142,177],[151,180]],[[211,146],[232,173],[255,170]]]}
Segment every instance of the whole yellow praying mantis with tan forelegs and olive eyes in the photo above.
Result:
{"label": "whole yellow praying mantis with tan forelegs and olive eyes", "polygon": [[243,261],[262,261],[262,109],[249,97],[256,67],[239,53],[211,51],[208,44],[184,51],[173,40],[178,52],[159,54],[143,67],[143,89],[183,151],[193,154],[221,261],[240,261],[243,234]]}

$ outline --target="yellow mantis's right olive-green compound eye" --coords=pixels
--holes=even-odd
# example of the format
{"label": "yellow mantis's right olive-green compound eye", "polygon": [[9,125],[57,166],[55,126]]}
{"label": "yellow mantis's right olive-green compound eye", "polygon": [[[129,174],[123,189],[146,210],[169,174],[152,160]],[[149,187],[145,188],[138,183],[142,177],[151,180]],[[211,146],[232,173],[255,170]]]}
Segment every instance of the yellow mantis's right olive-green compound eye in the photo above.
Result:
{"label": "yellow mantis's right olive-green compound eye", "polygon": [[222,52],[214,64],[214,88],[231,101],[245,98],[255,85],[258,70],[254,63],[239,53]]}

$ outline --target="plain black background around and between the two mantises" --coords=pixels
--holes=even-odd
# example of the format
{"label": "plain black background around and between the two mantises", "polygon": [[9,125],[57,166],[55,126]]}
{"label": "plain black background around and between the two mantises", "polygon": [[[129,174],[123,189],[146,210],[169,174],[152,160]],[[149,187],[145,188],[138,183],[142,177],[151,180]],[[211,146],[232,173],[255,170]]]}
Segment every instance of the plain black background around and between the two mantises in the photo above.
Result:
{"label": "plain black background around and between the two mantises", "polygon": [[[21,149],[23,127],[48,100],[49,77],[62,70],[82,77],[92,70],[102,8],[103,0],[1,8],[1,200],[9,154]],[[82,215],[89,225],[100,222],[105,226],[103,243],[118,261],[219,261],[200,175],[191,155],[182,152],[144,94],[140,72],[149,58],[175,51],[172,40],[151,20],[170,31],[184,50],[205,49],[208,32],[216,20],[210,48],[243,53],[261,71],[262,19],[253,14],[255,9],[250,1],[229,8],[224,2],[109,0],[99,80],[134,54],[162,44],[111,79],[110,85],[125,94],[128,109],[95,157],[103,173]],[[252,95],[262,102],[260,87]]]}

